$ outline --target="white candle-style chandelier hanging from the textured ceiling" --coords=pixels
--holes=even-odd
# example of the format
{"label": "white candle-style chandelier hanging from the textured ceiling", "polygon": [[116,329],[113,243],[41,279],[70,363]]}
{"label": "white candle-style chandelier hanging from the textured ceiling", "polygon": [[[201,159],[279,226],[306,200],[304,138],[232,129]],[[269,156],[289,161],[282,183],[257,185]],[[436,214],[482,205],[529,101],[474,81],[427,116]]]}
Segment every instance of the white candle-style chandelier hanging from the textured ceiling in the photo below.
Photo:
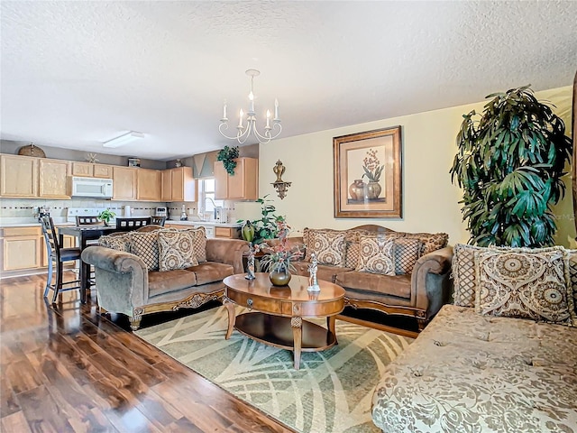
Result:
{"label": "white candle-style chandelier hanging from the textured ceiling", "polygon": [[[236,135],[229,136],[224,134],[224,131],[228,129],[228,117],[226,116],[226,101],[224,101],[223,106],[223,118],[220,119],[220,125],[218,126],[218,131],[223,134],[224,137],[230,140],[237,140],[238,143],[243,144],[246,142],[251,134],[254,134],[256,139],[261,144],[269,143],[270,140],[277,138],[282,131],[282,126],[280,125],[279,118],[279,101],[274,100],[274,118],[270,119],[270,110],[267,110],[267,124],[264,127],[264,133],[259,132],[256,127],[256,113],[254,112],[254,93],[252,91],[252,81],[254,77],[261,75],[261,72],[256,69],[247,69],[246,75],[251,77],[251,92],[249,93],[249,109],[246,112],[246,124],[244,122],[244,112],[243,108],[239,111],[238,126],[236,126]],[[272,121],[272,126],[270,122]]]}

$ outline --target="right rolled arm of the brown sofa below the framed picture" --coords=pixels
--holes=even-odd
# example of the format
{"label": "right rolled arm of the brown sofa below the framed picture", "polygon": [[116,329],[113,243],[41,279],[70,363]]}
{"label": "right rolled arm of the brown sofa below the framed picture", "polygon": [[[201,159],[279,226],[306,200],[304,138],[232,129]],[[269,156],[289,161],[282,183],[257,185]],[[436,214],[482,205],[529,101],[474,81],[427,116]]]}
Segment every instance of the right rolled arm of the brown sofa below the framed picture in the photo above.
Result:
{"label": "right rolled arm of the brown sofa below the framed picture", "polygon": [[452,263],[452,246],[427,253],[415,263],[411,274],[411,291],[417,297],[417,309],[426,310],[427,319],[435,316],[449,299]]}

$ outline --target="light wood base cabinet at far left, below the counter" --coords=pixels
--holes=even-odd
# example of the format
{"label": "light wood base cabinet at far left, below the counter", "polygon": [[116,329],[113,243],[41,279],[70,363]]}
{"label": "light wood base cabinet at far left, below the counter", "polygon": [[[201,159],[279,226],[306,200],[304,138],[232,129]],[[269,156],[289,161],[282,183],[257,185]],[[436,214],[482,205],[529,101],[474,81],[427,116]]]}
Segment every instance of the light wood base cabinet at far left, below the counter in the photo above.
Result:
{"label": "light wood base cabinet at far left, below the counter", "polygon": [[40,227],[5,227],[0,235],[3,271],[42,266],[41,251],[44,248],[44,238]]}

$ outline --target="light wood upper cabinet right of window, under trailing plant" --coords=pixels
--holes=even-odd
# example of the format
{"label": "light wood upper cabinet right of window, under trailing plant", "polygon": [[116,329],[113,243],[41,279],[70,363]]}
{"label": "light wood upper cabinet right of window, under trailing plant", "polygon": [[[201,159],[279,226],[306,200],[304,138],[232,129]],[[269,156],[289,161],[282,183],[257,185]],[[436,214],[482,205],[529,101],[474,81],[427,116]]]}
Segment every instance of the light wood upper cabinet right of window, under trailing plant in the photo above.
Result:
{"label": "light wood upper cabinet right of window, under trailing plant", "polygon": [[237,158],[234,176],[222,161],[215,162],[215,198],[219,200],[256,200],[258,198],[258,160]]}

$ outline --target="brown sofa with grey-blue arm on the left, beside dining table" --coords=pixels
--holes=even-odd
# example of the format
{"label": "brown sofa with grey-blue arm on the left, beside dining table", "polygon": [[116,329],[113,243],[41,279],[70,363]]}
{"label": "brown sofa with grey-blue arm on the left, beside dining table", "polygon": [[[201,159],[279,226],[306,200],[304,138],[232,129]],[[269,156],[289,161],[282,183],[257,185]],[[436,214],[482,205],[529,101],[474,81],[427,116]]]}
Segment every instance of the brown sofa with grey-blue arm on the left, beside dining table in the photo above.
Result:
{"label": "brown sofa with grey-blue arm on the left, beside dining table", "polygon": [[[196,255],[198,263],[183,262],[183,254],[177,249],[176,255],[167,253],[164,267],[169,270],[160,270],[163,263],[159,255],[167,251],[159,246],[160,236],[164,240],[175,232],[194,233],[196,254],[192,255]],[[95,267],[98,306],[127,315],[133,330],[140,327],[144,314],[196,309],[210,300],[221,299],[223,279],[243,272],[243,253],[248,251],[248,244],[242,240],[206,239],[204,228],[144,228],[103,236],[100,244],[106,246],[90,246],[82,252],[82,260]]]}

